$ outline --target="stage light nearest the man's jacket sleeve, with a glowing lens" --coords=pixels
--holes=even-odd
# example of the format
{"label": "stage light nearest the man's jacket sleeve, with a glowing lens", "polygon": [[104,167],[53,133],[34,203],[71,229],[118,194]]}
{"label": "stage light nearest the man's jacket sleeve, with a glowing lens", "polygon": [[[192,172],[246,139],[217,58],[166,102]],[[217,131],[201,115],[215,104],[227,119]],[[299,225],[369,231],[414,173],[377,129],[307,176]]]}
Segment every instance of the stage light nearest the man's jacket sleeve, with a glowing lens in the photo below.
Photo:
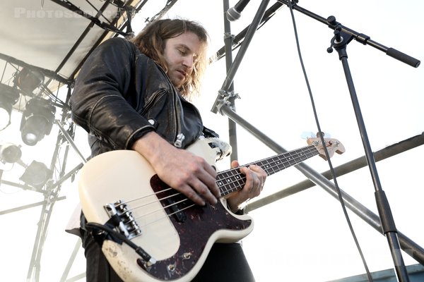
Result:
{"label": "stage light nearest the man's jacket sleeve, with a glowing lens", "polygon": [[20,133],[26,145],[34,146],[52,130],[56,108],[46,99],[30,99],[20,121]]}

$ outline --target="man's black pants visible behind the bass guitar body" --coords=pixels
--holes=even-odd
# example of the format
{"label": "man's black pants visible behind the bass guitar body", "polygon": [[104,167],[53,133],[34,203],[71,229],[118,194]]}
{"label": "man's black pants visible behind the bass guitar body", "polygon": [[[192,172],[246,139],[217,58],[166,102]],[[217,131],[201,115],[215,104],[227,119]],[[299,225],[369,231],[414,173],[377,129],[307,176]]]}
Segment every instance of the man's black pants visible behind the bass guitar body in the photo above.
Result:
{"label": "man's black pants visible behind the bass guitar body", "polygon": [[[88,282],[122,282],[112,269],[93,236],[83,232],[87,259]],[[216,243],[192,282],[254,282],[242,246],[238,243]]]}

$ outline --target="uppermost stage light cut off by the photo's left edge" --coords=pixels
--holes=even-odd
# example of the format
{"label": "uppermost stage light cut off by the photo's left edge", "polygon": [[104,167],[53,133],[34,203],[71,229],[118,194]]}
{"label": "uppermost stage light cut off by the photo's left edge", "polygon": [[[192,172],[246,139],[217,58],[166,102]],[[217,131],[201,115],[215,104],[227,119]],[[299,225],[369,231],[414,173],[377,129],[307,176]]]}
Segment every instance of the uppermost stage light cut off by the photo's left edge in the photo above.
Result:
{"label": "uppermost stage light cut off by the photo's left edge", "polygon": [[0,83],[0,130],[11,124],[12,108],[18,99],[19,92],[16,88]]}

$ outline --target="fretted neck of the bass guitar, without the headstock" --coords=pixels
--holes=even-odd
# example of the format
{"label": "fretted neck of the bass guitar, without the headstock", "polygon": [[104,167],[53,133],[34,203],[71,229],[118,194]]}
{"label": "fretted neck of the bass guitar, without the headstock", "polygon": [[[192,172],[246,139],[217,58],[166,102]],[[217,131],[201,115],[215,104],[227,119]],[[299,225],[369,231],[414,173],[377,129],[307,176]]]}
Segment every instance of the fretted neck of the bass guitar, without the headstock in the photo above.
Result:
{"label": "fretted neck of the bass guitar, without the headstock", "polygon": [[[266,175],[270,176],[273,173],[282,171],[284,168],[300,164],[302,161],[310,159],[317,154],[319,154],[317,148],[311,145],[302,147],[300,149],[295,149],[290,152],[285,152],[283,154],[278,154],[266,159],[261,159],[260,161],[256,161],[250,164],[260,166],[262,169],[264,169]],[[249,166],[250,164],[245,166]],[[239,168],[231,168],[218,173],[216,184],[220,189],[220,195],[224,197],[231,194],[232,192],[236,192],[237,190],[242,189],[246,184],[246,176],[240,172]]]}

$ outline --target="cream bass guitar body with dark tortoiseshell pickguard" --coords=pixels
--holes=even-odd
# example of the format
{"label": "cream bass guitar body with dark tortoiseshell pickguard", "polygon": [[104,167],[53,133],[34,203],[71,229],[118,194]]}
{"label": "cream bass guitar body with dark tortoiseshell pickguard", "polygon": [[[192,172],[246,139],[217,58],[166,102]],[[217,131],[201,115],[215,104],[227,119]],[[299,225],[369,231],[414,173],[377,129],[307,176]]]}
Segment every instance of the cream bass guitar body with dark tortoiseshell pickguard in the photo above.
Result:
{"label": "cream bass guitar body with dark tortoiseshell pickguard", "polygon": [[[214,165],[218,149],[210,143],[199,140],[188,149]],[[223,199],[213,206],[194,205],[130,150],[88,161],[81,171],[79,193],[88,222],[103,225],[110,220],[110,209],[124,207],[135,225],[129,227],[131,242],[156,260],[148,264],[129,245],[105,240],[102,252],[124,281],[191,281],[213,243],[236,242],[253,229],[252,219],[229,212]]]}

